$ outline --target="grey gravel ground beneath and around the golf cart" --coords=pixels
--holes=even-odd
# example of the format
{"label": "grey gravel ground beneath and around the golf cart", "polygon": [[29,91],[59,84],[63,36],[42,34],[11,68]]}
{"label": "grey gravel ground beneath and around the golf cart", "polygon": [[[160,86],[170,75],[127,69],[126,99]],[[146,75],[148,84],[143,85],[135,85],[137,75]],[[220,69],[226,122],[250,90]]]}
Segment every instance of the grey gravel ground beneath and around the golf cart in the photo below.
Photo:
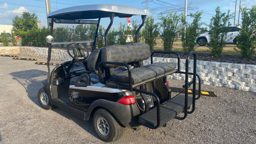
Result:
{"label": "grey gravel ground beneath and around the golf cart", "polygon": [[[46,62],[38,60],[36,62]],[[103,143],[92,122],[60,108],[43,110],[38,103],[47,66],[0,57],[0,143]],[[53,68],[53,67],[52,67]],[[170,82],[182,86],[182,81]],[[217,97],[202,96],[196,111],[166,127],[126,129],[115,143],[255,143],[256,95],[225,87],[202,86]]]}

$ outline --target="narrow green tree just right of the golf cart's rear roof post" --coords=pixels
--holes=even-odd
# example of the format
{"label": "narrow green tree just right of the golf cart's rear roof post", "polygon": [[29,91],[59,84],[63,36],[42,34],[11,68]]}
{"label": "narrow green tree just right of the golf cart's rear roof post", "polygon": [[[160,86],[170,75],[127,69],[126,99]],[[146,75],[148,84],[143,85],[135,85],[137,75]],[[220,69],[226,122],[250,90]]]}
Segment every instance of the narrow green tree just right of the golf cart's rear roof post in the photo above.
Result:
{"label": "narrow green tree just right of the golf cart's rear roof post", "polygon": [[150,50],[153,51],[154,46],[156,46],[156,38],[159,34],[158,23],[154,24],[153,16],[146,18],[145,28],[142,31],[143,39],[145,39],[146,44],[150,46]]}

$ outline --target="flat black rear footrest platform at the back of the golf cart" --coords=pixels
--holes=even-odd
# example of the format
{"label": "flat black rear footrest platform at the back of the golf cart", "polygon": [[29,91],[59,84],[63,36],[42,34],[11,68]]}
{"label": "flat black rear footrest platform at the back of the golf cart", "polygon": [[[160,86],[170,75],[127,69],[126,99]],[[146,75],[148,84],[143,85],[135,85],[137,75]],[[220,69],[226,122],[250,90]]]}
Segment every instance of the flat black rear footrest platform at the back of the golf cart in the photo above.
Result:
{"label": "flat black rear footrest platform at the back of the golf cart", "polygon": [[[192,104],[192,97],[188,97],[188,106]],[[166,124],[184,111],[185,95],[177,95],[167,103],[160,105],[160,126]],[[139,116],[138,122],[145,127],[153,129],[157,125],[156,107]]]}

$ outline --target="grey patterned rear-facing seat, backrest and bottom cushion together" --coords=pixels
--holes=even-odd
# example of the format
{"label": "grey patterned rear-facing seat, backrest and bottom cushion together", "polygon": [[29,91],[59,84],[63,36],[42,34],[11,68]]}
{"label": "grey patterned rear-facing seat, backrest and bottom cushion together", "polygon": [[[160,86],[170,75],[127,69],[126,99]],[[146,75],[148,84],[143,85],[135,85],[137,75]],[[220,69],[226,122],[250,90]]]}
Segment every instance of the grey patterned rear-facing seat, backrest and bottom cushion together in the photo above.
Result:
{"label": "grey patterned rear-facing seat, backrest and bottom cushion together", "polygon": [[[150,47],[148,44],[137,42],[127,45],[113,45],[101,49],[101,62],[141,62],[147,60],[151,55]],[[104,65],[105,69],[117,68],[118,65]],[[157,79],[161,76],[174,73],[176,63],[153,63],[146,66],[132,68],[131,78],[132,84],[139,84],[140,82],[147,81],[148,79]],[[108,81],[121,82],[129,84],[128,71],[120,71],[119,73],[111,74]],[[106,82],[108,82],[106,81]]]}

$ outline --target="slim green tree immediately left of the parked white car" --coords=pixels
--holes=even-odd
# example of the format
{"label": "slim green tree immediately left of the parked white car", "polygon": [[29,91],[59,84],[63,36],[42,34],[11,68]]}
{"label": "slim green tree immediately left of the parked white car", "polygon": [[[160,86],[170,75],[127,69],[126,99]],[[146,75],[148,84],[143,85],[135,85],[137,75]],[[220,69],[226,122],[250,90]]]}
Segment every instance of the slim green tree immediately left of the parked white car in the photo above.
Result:
{"label": "slim green tree immediately left of the parked white car", "polygon": [[196,45],[196,42],[194,39],[199,36],[199,27],[201,24],[199,23],[201,19],[202,12],[198,12],[198,14],[192,15],[193,22],[187,23],[185,15],[182,15],[182,47],[184,52],[188,53],[191,51],[194,51],[194,46]]}

